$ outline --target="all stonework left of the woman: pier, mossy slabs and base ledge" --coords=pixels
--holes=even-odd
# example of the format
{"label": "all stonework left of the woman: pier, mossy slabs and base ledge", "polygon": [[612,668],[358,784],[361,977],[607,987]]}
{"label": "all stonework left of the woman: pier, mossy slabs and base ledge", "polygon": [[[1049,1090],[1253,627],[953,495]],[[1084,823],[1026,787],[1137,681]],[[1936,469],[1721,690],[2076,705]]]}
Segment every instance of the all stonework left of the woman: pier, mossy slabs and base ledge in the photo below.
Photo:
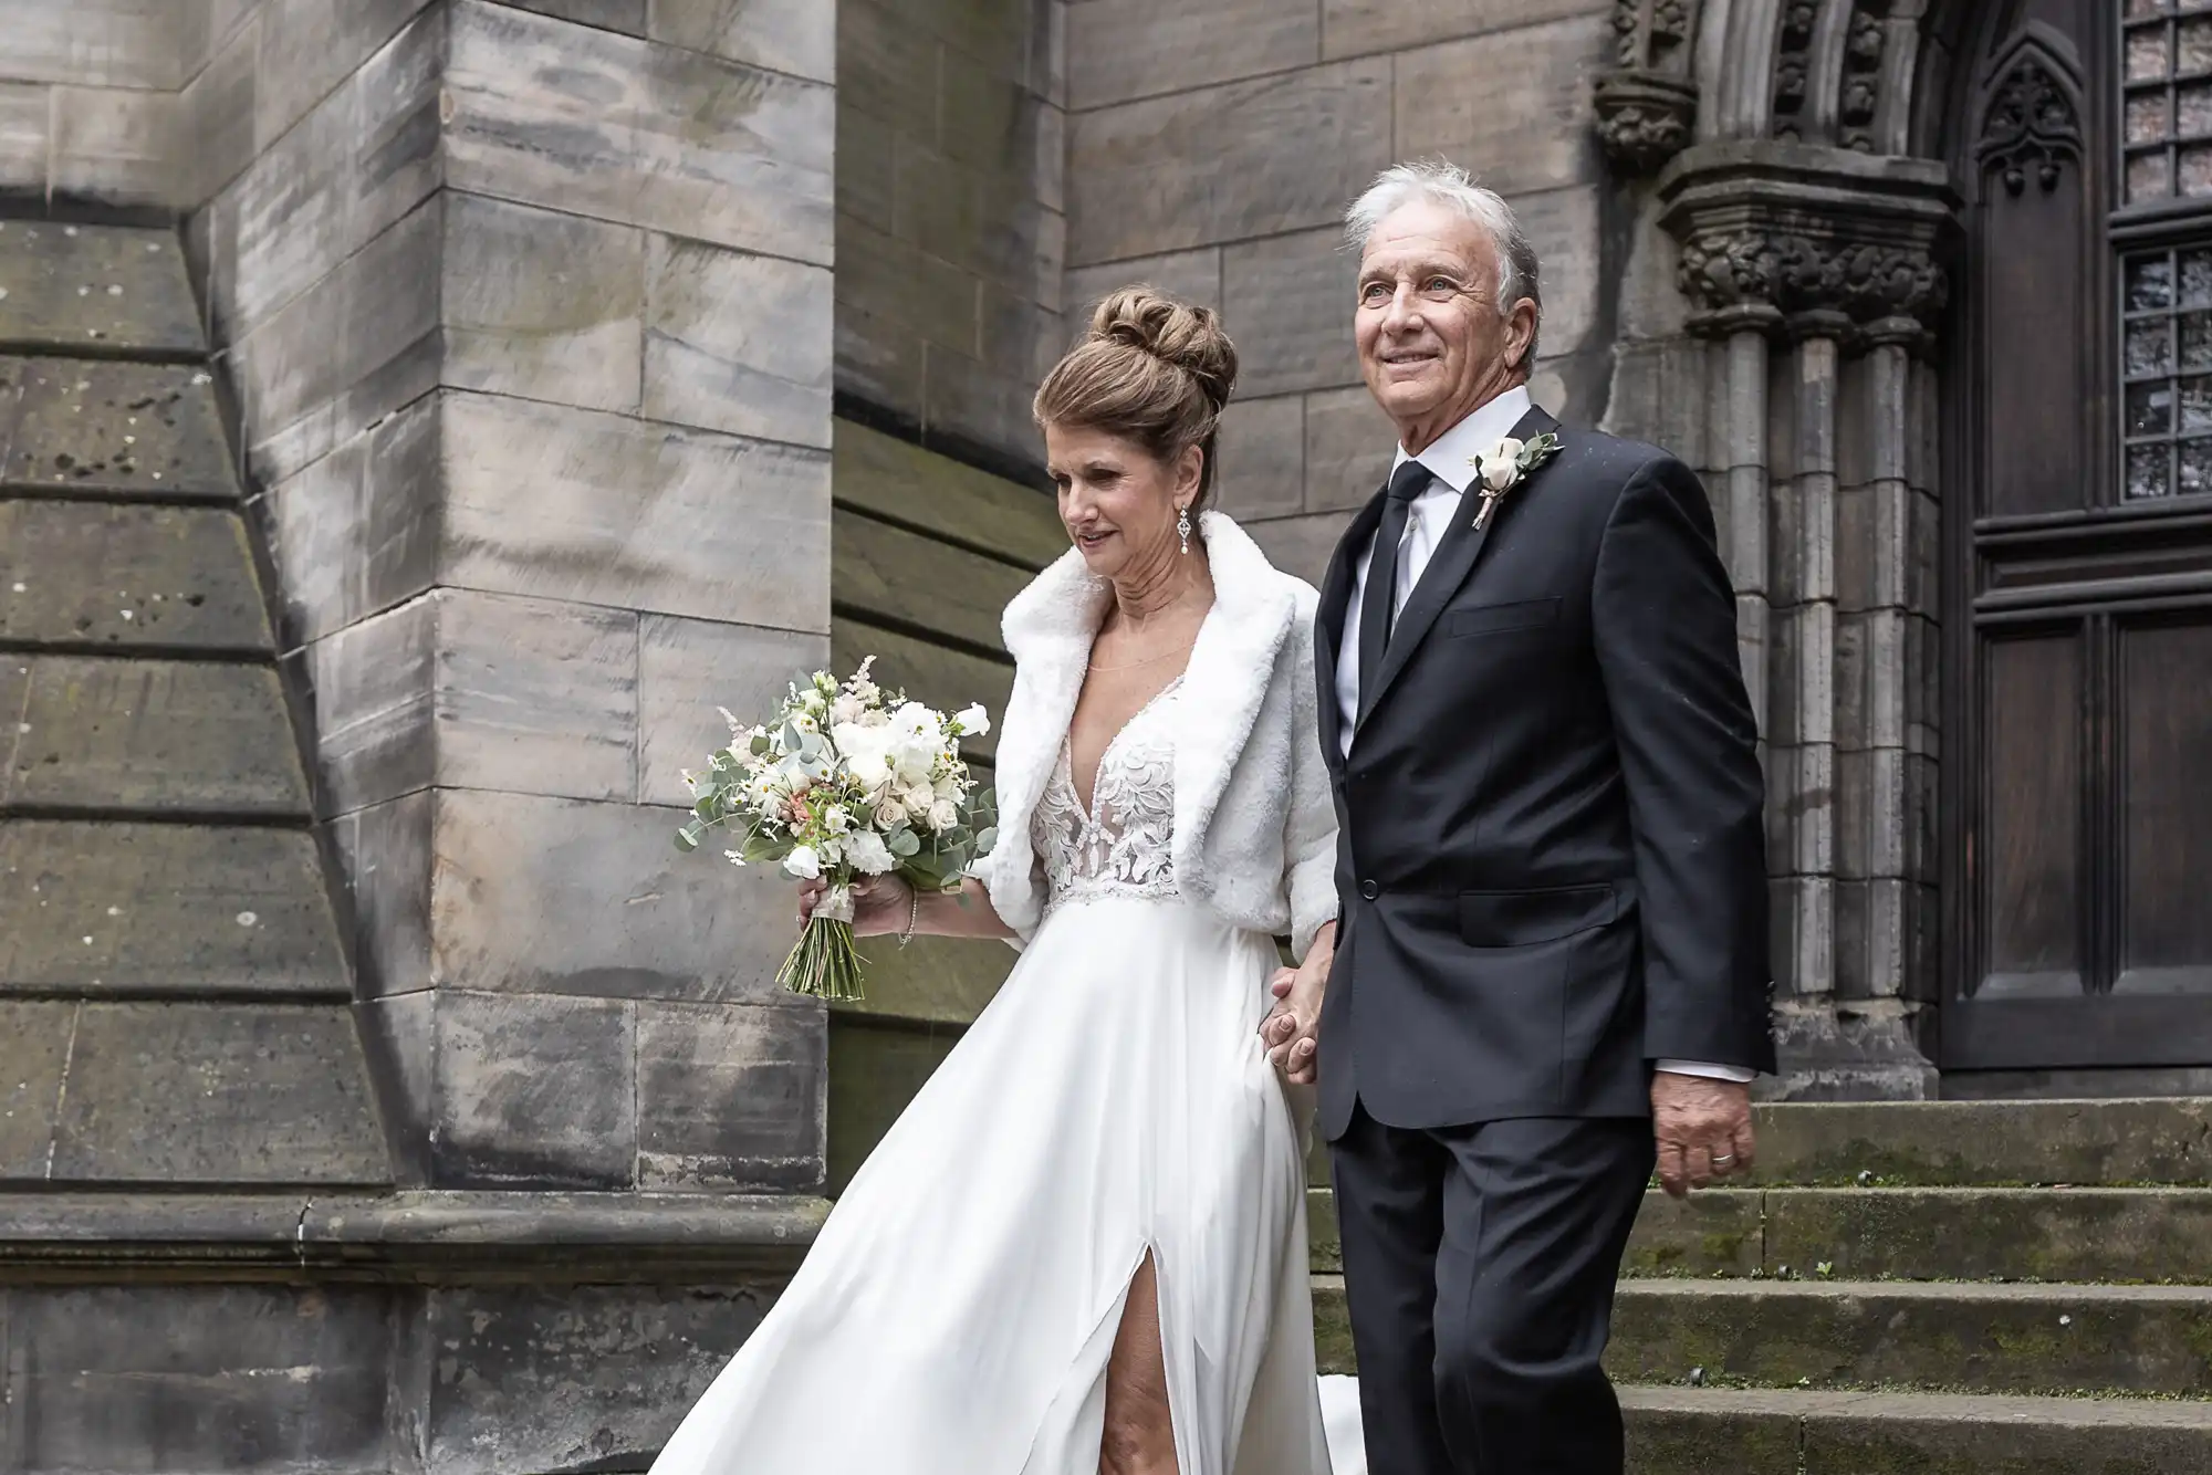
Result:
{"label": "all stonework left of the woman: pier, mossy slabs and base ledge", "polygon": [[834,7],[18,13],[0,1468],[644,1468],[823,1214],[670,834],[830,648]]}

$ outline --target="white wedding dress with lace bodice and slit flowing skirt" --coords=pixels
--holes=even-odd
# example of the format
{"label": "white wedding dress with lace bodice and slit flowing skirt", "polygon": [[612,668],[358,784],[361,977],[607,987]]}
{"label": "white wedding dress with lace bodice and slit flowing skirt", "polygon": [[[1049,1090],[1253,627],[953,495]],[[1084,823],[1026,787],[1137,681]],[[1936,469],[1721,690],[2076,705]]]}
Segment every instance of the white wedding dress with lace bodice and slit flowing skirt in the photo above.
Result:
{"label": "white wedding dress with lace bodice and slit flowing skirt", "polygon": [[[1274,944],[1183,900],[1170,686],[1084,812],[1031,827],[1048,911],[655,1475],[1097,1475],[1152,1254],[1179,1475],[1356,1475],[1323,1429],[1298,1128],[1259,1044]],[[1343,1448],[1349,1446],[1349,1448]]]}

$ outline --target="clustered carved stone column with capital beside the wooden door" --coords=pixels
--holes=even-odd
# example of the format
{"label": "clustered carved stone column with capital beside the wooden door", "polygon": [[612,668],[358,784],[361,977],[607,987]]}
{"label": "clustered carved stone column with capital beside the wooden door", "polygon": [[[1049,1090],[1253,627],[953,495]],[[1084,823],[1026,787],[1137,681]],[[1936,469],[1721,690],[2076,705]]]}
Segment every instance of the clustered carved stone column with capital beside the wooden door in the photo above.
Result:
{"label": "clustered carved stone column with capital beside the wooden door", "polygon": [[[1794,142],[1710,144],[1659,179],[1690,329],[1728,345],[1728,564],[1765,734],[1776,1024],[1790,1097],[1920,1097],[1933,980],[1909,975],[1916,688],[1893,447],[1933,343],[1947,172]],[[1774,374],[1774,367],[1783,374]],[[1933,659],[1931,641],[1918,650]],[[1911,712],[1918,716],[1918,712]],[[1931,796],[1929,785],[1929,796]]]}

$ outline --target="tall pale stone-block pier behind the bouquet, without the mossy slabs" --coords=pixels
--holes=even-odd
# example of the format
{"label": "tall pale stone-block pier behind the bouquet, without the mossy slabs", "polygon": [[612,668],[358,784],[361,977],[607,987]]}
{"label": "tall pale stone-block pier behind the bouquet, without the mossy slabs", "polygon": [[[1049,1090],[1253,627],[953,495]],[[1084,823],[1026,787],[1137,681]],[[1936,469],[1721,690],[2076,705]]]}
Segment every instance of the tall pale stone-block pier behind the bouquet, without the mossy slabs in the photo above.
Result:
{"label": "tall pale stone-block pier behind the bouquet, without the mossy slabs", "polygon": [[781,898],[670,831],[712,705],[827,644],[832,13],[265,0],[232,46],[195,243],[414,1174],[816,1188]]}

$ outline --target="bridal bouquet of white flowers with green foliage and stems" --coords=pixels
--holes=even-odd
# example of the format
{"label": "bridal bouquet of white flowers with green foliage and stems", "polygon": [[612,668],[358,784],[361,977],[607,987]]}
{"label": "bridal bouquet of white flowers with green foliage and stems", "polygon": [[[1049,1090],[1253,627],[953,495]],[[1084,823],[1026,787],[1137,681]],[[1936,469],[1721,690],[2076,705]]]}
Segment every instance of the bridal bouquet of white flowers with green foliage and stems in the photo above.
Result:
{"label": "bridal bouquet of white flowers with green foliage and stems", "polygon": [[677,849],[695,851],[717,825],[743,838],[723,851],[734,865],[781,862],[830,889],[776,973],[792,993],[860,997],[860,953],[852,940],[852,887],[863,876],[898,876],[916,896],[958,891],[969,865],[995,840],[991,792],[969,776],[960,739],[991,730],[980,705],[945,716],[869,679],[876,657],[849,681],[830,672],[794,681],[765,725],[730,712],[730,745],[703,774],[684,774],[692,818]]}

